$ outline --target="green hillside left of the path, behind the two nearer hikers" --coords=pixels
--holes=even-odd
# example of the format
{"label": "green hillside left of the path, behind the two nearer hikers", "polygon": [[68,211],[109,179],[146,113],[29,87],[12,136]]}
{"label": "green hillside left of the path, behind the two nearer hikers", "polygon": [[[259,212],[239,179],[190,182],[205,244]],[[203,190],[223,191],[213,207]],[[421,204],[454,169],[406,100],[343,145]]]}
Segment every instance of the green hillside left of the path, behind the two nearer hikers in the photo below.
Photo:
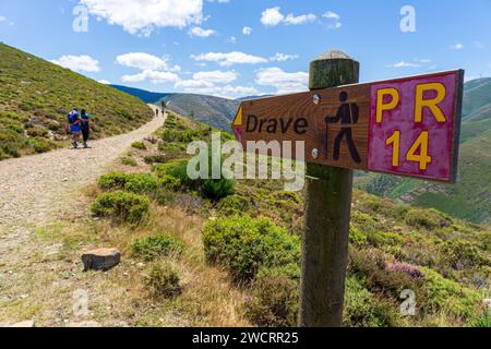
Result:
{"label": "green hillside left of the path, behind the two nearer hikers", "polygon": [[72,107],[94,117],[93,136],[130,131],[151,120],[140,99],[0,44],[0,159],[63,146]]}

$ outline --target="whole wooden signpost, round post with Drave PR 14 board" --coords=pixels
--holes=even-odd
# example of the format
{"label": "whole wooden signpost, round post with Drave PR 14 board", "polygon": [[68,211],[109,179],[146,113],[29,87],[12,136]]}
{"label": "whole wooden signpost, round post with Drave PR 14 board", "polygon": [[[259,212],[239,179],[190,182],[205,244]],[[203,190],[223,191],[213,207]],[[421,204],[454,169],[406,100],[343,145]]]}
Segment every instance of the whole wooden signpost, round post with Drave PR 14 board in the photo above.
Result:
{"label": "whole wooden signpost, round post with Drave PR 14 board", "polygon": [[357,84],[359,63],[339,51],[311,63],[310,92],[246,100],[239,142],[304,141],[301,326],[340,326],[352,170],[453,183],[464,71]]}

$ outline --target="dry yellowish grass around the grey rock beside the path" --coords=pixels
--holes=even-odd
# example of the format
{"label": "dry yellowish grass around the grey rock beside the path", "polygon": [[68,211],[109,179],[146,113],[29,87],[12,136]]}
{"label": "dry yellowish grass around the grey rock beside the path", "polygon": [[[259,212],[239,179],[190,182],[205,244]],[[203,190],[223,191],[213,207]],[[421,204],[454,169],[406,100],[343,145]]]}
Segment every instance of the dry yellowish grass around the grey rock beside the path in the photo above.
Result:
{"label": "dry yellowish grass around the grey rock beside the path", "polygon": [[[98,189],[91,185],[84,193],[94,196]],[[122,263],[115,269],[79,274],[85,286],[81,288],[88,288],[91,294],[91,318],[109,326],[250,326],[240,313],[246,294],[231,285],[227,273],[205,263],[201,242],[205,218],[190,216],[178,207],[157,205],[152,208],[148,221],[137,228],[82,216],[85,218],[70,217],[70,224],[43,229],[40,239],[60,241],[63,248],[59,256],[63,260],[76,260],[82,251],[100,246],[116,246],[122,252]],[[135,239],[159,232],[185,245],[181,256],[167,258],[178,268],[182,286],[182,293],[169,300],[151,298],[144,286],[147,265],[131,255]]]}

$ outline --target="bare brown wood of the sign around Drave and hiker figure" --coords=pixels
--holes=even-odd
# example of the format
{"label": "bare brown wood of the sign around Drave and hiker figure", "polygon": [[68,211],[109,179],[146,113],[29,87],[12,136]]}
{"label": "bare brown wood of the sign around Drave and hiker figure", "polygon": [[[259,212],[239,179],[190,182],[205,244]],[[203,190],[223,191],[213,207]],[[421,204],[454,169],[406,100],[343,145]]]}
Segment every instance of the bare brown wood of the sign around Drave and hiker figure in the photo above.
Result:
{"label": "bare brown wood of the sign around Drave and hiker figure", "polygon": [[[342,142],[339,160],[333,159],[333,151],[336,135],[342,129],[340,122],[337,124],[326,124],[326,117],[335,117],[342,103],[339,94],[348,94],[348,104],[356,104],[360,116],[356,124],[351,127],[356,147],[360,154],[361,163],[357,164],[350,156],[346,139]],[[313,103],[314,95],[321,96],[321,103]],[[367,149],[370,119],[370,85],[352,85],[344,88],[330,88],[318,92],[286,95],[272,98],[250,100],[242,104],[242,143],[247,141],[304,141],[306,160],[309,163],[335,166],[350,169],[367,169]],[[261,132],[259,127],[253,132],[248,132],[248,120],[251,116],[258,117],[259,121],[265,120]],[[304,118],[309,127],[304,134],[296,133],[294,128],[289,128],[286,133],[280,130],[276,133],[267,132],[266,127],[271,120],[284,122],[287,125],[289,120]],[[252,128],[249,128],[251,131]],[[319,158],[312,157],[312,151],[320,151]]]}

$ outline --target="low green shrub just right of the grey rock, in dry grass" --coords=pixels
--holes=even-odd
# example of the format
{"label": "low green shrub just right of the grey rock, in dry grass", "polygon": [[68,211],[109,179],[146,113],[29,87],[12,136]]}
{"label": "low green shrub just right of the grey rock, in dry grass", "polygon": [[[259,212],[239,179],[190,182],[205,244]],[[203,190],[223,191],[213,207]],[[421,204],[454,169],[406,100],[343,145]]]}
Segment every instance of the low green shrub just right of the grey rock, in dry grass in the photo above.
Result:
{"label": "low green shrub just right of the grey rock, in dry grass", "polygon": [[170,254],[180,254],[183,250],[182,243],[172,237],[159,233],[157,236],[137,239],[131,245],[134,256],[145,261],[152,261],[157,257],[168,256]]}

